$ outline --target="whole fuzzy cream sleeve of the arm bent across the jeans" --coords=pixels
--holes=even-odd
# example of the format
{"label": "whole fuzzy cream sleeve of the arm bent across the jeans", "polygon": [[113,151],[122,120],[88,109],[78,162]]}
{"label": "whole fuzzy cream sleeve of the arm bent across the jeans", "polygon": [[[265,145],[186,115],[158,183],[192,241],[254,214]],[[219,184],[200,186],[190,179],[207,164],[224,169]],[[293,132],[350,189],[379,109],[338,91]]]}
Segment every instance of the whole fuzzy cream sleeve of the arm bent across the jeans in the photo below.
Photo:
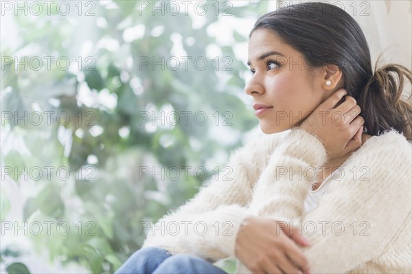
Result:
{"label": "whole fuzzy cream sleeve of the arm bent across the jeans", "polygon": [[192,253],[210,262],[235,257],[238,229],[251,216],[255,174],[251,173],[255,145],[249,142],[234,152],[225,172],[212,178],[199,192],[148,229],[142,247],[157,246],[172,254]]}

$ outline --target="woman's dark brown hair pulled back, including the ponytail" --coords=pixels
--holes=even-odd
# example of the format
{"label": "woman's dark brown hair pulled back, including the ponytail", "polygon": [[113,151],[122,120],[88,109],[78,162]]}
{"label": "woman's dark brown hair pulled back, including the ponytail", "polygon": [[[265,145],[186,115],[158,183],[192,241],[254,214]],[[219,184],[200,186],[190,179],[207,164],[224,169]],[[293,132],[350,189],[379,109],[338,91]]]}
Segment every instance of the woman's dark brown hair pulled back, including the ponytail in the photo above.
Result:
{"label": "woman's dark brown hair pulled back, including the ponytail", "polygon": [[318,2],[289,5],[260,16],[249,38],[262,28],[301,52],[308,67],[339,67],[345,81],[343,88],[361,106],[364,130],[369,135],[394,128],[412,140],[411,96],[407,100],[400,98],[404,77],[412,82],[412,72],[397,64],[378,68],[378,61],[373,72],[366,38],[345,10]]}

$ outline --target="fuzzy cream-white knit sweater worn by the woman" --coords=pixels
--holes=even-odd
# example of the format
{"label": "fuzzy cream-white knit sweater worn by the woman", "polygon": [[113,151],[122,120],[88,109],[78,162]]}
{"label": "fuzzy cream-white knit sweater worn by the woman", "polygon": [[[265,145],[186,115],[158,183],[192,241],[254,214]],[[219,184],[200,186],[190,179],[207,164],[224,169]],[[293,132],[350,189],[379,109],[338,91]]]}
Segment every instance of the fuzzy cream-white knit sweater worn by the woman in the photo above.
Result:
{"label": "fuzzy cream-white knit sweater worn by the woman", "polygon": [[[396,130],[368,139],[341,165],[341,178],[305,213],[308,190],[325,164],[320,139],[300,128],[266,135],[232,153],[219,176],[163,216],[143,247],[236,258],[242,220],[265,216],[301,225],[311,273],[412,273],[412,146]],[[227,174],[228,172],[225,172]],[[275,231],[274,231],[275,233]],[[243,264],[238,273],[250,273]]]}

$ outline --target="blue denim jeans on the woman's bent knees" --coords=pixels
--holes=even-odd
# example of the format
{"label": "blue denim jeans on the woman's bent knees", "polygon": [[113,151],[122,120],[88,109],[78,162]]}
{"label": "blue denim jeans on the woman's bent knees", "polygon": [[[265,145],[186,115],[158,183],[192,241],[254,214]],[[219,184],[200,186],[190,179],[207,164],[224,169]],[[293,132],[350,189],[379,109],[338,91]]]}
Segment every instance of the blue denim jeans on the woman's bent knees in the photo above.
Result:
{"label": "blue denim jeans on the woman's bent knees", "polygon": [[227,274],[206,260],[186,254],[171,255],[160,247],[139,249],[115,274]]}

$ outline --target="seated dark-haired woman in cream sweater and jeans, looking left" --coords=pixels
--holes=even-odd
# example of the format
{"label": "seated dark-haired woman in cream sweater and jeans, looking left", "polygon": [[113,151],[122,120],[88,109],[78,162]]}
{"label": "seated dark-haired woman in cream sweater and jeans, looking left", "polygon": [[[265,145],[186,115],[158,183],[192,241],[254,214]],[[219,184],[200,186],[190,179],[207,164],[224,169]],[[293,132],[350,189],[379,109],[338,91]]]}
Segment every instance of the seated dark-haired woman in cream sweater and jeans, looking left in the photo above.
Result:
{"label": "seated dark-haired woman in cream sweater and jeans, looking left", "polygon": [[225,273],[222,258],[238,273],[411,273],[411,71],[373,72],[361,28],[327,3],[265,14],[249,38],[245,92],[268,135],[117,273]]}

